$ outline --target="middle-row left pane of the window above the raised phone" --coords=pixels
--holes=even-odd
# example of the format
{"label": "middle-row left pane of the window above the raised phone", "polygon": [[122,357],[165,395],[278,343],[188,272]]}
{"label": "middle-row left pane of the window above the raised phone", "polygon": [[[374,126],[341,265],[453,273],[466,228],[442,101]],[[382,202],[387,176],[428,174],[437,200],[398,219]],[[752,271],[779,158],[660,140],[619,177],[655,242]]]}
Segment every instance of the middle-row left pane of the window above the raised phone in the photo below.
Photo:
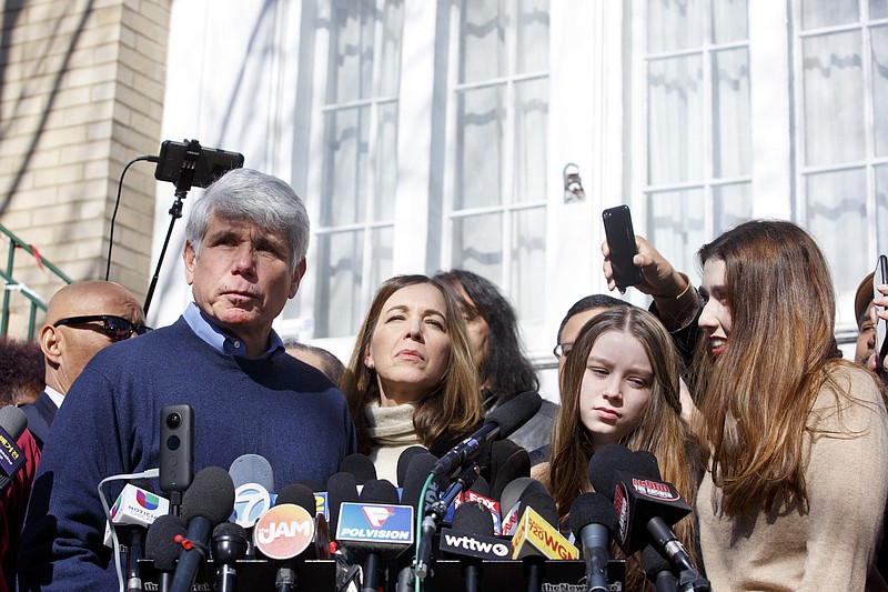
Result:
{"label": "middle-row left pane of the window above the raised phone", "polygon": [[699,56],[648,64],[648,183],[696,180],[704,171],[703,91]]}

